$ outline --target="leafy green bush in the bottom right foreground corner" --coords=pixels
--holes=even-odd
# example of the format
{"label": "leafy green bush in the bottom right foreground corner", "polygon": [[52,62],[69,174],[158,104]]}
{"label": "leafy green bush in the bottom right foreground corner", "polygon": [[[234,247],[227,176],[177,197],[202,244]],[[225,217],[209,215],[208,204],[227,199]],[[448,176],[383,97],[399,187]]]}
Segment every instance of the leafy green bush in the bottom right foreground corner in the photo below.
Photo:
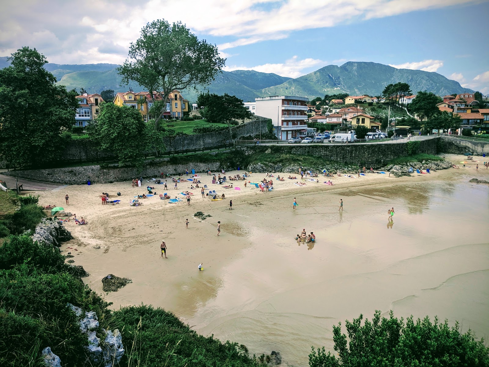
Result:
{"label": "leafy green bush in the bottom right foreground corner", "polygon": [[372,321],[363,316],[352,322],[346,321],[345,334],[341,322],[333,326],[334,350],[338,357],[324,347],[312,348],[309,354],[310,367],[358,367],[358,366],[473,366],[489,365],[489,348],[484,340],[476,340],[472,331],[459,331],[448,321],[432,323],[428,317],[413,320],[409,317],[398,320],[390,312],[389,318],[380,317],[376,311]]}

